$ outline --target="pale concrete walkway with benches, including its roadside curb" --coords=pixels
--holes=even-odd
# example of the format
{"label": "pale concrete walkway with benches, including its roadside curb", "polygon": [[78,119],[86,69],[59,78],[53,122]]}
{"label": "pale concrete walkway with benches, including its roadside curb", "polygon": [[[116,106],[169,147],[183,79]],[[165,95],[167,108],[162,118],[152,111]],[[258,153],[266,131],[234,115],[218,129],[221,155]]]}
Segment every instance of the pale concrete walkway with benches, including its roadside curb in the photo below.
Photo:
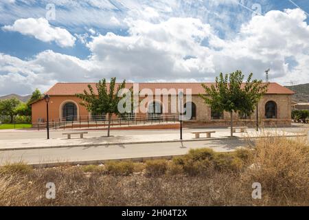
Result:
{"label": "pale concrete walkway with benches, including its roadside curb", "polygon": [[[206,138],[205,134],[201,134],[201,137],[196,139],[192,131],[212,131],[214,129],[187,129],[183,131],[184,142],[195,141],[207,141],[207,140],[221,140],[229,139],[228,129],[216,129],[216,133],[211,134],[211,138]],[[67,140],[67,135],[60,137],[54,137],[52,139],[21,139],[21,140],[0,140],[0,151],[8,150],[21,150],[32,148],[62,148],[73,146],[104,146],[104,145],[117,145],[117,144],[148,144],[148,143],[160,143],[160,142],[179,142],[179,131],[161,131],[161,133],[152,133],[150,131],[138,131],[139,133],[115,133],[112,137],[101,136],[102,133],[89,133],[85,135],[83,139],[80,139],[79,135],[72,135],[71,140]],[[26,136],[27,136],[26,132]],[[255,129],[248,129],[247,133],[234,133],[238,138],[255,138],[264,136],[297,136],[301,133],[294,133],[284,131],[282,129],[265,129],[264,131],[255,131]],[[62,137],[61,137],[62,136]]]}

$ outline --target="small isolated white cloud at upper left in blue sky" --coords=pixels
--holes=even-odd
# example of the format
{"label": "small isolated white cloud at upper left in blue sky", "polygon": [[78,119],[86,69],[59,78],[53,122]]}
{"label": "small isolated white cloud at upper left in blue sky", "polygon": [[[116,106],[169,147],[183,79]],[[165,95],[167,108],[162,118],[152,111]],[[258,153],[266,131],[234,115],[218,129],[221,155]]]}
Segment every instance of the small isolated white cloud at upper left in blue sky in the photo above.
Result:
{"label": "small isolated white cloud at upper left in blue sky", "polygon": [[76,38],[64,28],[52,27],[44,18],[18,19],[13,25],[5,25],[5,31],[34,36],[43,42],[55,41],[60,47],[73,47]]}

